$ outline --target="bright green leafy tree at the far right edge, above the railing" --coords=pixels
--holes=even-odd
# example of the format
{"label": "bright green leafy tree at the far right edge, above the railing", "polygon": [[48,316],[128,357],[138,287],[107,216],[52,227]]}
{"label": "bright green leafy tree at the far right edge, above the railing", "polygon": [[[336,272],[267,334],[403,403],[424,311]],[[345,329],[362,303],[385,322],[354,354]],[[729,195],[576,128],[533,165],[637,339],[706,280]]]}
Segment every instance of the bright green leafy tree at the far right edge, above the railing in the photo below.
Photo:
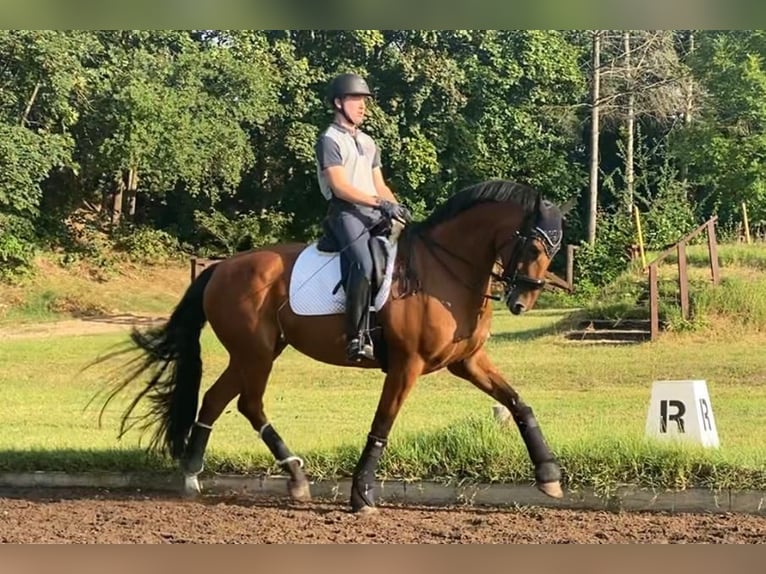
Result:
{"label": "bright green leafy tree at the far right edge, above the railing", "polygon": [[699,211],[738,221],[747,201],[753,221],[766,219],[766,34],[760,30],[699,35],[691,59],[707,92],[695,122],[674,137],[674,155],[688,166]]}

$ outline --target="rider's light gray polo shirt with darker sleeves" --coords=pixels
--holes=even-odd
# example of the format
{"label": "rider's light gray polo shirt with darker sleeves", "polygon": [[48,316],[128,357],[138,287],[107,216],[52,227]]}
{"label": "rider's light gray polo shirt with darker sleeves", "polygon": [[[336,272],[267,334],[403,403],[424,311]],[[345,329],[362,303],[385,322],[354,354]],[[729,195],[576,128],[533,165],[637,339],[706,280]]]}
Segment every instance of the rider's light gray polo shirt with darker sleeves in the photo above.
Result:
{"label": "rider's light gray polo shirt with darker sleeves", "polygon": [[380,167],[380,150],[366,133],[357,129],[356,135],[351,135],[343,126],[332,123],[320,134],[315,152],[319,189],[325,199],[332,199],[333,192],[323,171],[336,165],[345,168],[351,185],[371,196],[378,195],[372,170]]}

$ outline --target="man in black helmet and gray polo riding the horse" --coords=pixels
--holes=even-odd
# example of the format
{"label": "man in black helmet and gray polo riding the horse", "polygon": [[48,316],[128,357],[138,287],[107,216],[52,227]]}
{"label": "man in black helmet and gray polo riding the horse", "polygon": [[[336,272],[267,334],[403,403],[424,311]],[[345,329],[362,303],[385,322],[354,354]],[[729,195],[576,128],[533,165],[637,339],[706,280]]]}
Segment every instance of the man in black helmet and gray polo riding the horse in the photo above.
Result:
{"label": "man in black helmet and gray polo riding the horse", "polygon": [[335,117],[316,143],[319,188],[328,200],[327,223],[341,249],[341,269],[348,277],[346,349],[349,360],[374,359],[364,326],[370,308],[372,255],[370,229],[388,219],[410,219],[386,185],[380,149],[359,129],[372,92],[356,74],[341,74],[330,83],[329,103]]}

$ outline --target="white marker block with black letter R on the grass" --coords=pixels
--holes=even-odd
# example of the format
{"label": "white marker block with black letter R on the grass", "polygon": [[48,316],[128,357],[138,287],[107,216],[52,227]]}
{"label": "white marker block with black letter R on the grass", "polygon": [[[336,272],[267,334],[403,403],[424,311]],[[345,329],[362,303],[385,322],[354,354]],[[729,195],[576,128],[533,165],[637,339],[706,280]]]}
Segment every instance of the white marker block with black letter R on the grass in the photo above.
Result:
{"label": "white marker block with black letter R on the grass", "polygon": [[705,381],[654,381],[646,436],[717,448],[718,431]]}

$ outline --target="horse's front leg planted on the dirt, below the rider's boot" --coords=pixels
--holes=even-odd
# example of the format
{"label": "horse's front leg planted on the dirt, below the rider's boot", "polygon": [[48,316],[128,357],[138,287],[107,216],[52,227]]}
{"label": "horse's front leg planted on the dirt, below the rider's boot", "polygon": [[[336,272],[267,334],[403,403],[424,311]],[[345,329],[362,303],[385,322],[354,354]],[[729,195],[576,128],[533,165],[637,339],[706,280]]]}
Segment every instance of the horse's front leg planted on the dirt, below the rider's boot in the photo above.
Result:
{"label": "horse's front leg planted on the dirt, below the rider's boot", "polygon": [[419,359],[399,361],[392,358],[367,444],[354,469],[351,484],[351,510],[354,512],[369,513],[375,510],[374,487],[378,460],[388,443],[388,434],[396,415],[422,369],[423,363]]}

